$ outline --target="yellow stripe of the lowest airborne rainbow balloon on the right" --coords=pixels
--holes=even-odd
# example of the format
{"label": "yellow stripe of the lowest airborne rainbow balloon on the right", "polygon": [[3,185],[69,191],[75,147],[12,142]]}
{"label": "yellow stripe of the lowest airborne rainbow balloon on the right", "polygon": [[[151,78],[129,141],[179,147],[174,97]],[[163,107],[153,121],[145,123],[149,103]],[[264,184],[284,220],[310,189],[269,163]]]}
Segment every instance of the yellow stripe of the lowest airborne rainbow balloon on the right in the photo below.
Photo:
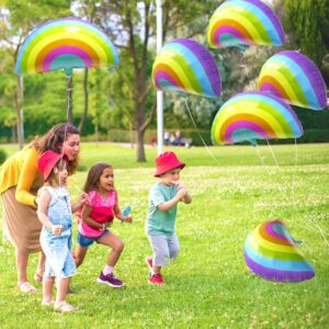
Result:
{"label": "yellow stripe of the lowest airborne rainbow balloon on the right", "polygon": [[[243,100],[243,103],[239,104],[240,102],[241,102],[241,99],[237,99],[237,101],[220,109],[220,114],[216,116],[216,131],[222,127],[222,124],[219,124],[219,123],[217,126],[217,121],[220,121],[220,123],[224,124],[225,121],[232,115],[232,113],[234,114],[246,113],[246,114],[253,114],[256,116],[261,117],[263,121],[265,121],[272,127],[272,129],[275,132],[275,134],[277,135],[279,138],[286,137],[286,133],[283,131],[282,125],[280,124],[279,121],[276,121],[276,118],[273,116],[273,114],[270,114],[269,112],[266,112],[263,109],[257,107],[254,105],[254,102],[252,102],[252,101]],[[237,103],[238,103],[238,105],[235,106],[235,104],[237,104]],[[264,103],[264,107],[265,107],[265,105],[266,104]],[[231,109],[230,111],[226,110],[227,107],[231,107],[231,106],[235,106],[235,107]],[[272,107],[272,106],[269,106],[269,107]],[[280,116],[282,116],[280,114],[280,112],[277,112],[277,114]]]}

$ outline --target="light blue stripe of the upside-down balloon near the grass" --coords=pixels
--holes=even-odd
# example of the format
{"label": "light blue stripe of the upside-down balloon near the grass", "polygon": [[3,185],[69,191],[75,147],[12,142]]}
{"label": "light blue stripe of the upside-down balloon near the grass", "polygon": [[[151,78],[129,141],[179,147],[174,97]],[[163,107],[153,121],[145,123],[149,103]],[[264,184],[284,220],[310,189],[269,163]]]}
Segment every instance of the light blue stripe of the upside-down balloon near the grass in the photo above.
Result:
{"label": "light blue stripe of the upside-down balloon near the grass", "polygon": [[249,241],[247,240],[245,245],[245,251],[248,254],[248,257],[253,260],[256,263],[273,269],[273,270],[280,270],[280,271],[298,271],[298,272],[313,272],[313,266],[304,261],[282,261],[273,258],[263,257],[259,253],[256,253],[249,246]]}

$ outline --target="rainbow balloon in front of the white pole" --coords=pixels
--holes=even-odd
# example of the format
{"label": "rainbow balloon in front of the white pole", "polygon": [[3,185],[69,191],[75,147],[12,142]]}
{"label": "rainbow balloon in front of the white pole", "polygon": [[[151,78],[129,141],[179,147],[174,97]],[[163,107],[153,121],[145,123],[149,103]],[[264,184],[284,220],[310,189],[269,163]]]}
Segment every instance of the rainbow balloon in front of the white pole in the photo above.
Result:
{"label": "rainbow balloon in front of the white pole", "polygon": [[152,68],[157,89],[194,93],[208,98],[220,94],[220,76],[212,55],[191,38],[178,38],[166,44]]}

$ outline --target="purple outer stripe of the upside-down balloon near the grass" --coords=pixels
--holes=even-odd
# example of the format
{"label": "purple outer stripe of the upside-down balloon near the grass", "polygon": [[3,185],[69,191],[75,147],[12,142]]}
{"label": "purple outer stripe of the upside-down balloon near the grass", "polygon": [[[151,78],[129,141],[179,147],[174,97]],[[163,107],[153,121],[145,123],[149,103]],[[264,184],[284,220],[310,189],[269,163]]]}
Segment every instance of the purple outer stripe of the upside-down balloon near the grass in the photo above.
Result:
{"label": "purple outer stripe of the upside-down balloon near the grass", "polygon": [[247,265],[251,271],[253,271],[259,276],[280,282],[299,282],[305,280],[310,280],[315,276],[315,272],[300,272],[300,271],[280,271],[273,270],[265,266],[262,266],[256,263],[252,259],[249,258],[247,252],[243,250],[243,256]]}

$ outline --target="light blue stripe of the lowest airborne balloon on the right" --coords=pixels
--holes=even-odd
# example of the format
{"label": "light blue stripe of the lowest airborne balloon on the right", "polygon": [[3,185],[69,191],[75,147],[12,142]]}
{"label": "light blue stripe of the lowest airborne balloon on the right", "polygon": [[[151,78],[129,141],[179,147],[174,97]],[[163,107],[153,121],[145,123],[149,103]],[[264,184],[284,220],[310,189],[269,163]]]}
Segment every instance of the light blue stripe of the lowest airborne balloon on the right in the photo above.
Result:
{"label": "light blue stripe of the lowest airborne balloon on the right", "polygon": [[[225,103],[225,107],[230,105],[234,102],[242,101],[242,100],[261,101],[261,102],[270,104],[277,112],[280,112],[281,115],[284,117],[284,120],[290,124],[294,135],[296,137],[302,136],[302,131],[296,122],[296,118],[292,115],[292,113],[281,103],[279,103],[275,100],[273,100],[272,98],[265,97],[263,94],[259,94],[259,93],[237,94],[236,97],[231,98],[230,100],[228,100]],[[280,122],[279,122],[279,124],[280,124]]]}

